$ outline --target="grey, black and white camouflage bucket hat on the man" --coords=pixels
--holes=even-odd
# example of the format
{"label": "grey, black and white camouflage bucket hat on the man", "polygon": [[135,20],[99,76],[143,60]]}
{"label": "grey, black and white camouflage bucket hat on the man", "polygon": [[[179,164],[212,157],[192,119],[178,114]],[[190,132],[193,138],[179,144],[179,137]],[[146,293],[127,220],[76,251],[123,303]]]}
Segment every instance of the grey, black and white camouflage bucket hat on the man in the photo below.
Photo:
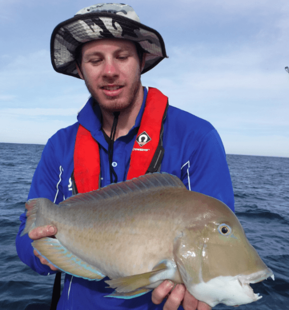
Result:
{"label": "grey, black and white camouflage bucket hat on the man", "polygon": [[50,43],[54,70],[80,78],[75,62],[77,47],[104,38],[127,39],[139,43],[144,52],[148,53],[141,73],[151,70],[167,57],[161,35],[141,24],[132,7],[103,3],[82,9],[73,18],[55,27]]}

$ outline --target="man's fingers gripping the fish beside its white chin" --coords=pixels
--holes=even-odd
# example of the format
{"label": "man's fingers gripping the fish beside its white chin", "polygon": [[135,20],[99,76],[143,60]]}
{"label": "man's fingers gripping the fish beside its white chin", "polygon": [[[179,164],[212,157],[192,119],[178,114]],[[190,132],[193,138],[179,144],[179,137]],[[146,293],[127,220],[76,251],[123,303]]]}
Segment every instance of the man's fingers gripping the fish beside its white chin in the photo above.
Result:
{"label": "man's fingers gripping the fish beside its white chin", "polygon": [[163,307],[164,310],[176,310],[180,304],[185,310],[211,310],[208,304],[191,295],[184,284],[177,284],[172,290],[173,286],[171,281],[166,280],[155,288],[152,294],[153,303],[160,304],[169,294]]}

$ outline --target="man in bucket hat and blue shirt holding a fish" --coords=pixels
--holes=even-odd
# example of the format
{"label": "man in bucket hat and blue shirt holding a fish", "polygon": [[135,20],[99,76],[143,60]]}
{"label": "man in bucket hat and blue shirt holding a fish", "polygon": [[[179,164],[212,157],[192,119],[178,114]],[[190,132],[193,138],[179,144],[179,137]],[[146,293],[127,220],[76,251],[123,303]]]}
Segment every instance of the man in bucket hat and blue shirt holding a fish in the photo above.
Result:
{"label": "man in bucket hat and blue shirt holding a fish", "polygon": [[[84,79],[91,98],[78,122],[47,142],[28,199],[46,197],[59,203],[73,190],[87,192],[161,171],[178,176],[189,190],[234,208],[226,154],[215,129],[167,106],[159,90],[142,87],[141,73],[155,67],[166,52],[160,34],[141,24],[131,7],[100,4],[79,11],[54,29],[51,55],[57,72]],[[53,236],[56,228],[45,226],[20,237],[25,213],[20,220],[20,259],[40,274],[56,271],[31,247],[31,239]],[[66,274],[57,309],[175,310],[181,303],[185,309],[210,309],[184,285],[173,288],[170,281],[127,300],[104,298],[110,293],[106,286]]]}

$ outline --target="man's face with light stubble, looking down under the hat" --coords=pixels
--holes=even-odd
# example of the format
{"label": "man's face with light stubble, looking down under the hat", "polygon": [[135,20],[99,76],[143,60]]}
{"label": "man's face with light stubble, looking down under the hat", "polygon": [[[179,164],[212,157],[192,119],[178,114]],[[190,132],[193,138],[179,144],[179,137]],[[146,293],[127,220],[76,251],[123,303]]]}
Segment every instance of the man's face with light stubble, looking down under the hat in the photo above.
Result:
{"label": "man's face with light stubble, looking down under the hat", "polygon": [[[144,59],[142,61],[142,68]],[[122,39],[101,39],[82,47],[79,75],[106,111],[120,111],[142,102],[140,61],[133,42]]]}

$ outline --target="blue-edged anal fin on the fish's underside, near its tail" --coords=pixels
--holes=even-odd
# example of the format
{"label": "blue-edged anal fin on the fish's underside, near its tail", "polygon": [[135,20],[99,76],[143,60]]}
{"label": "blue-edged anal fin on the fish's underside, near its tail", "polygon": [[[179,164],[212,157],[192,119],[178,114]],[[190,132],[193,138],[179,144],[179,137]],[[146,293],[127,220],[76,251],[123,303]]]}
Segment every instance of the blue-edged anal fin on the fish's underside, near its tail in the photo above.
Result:
{"label": "blue-edged anal fin on the fish's underside, near its tail", "polygon": [[34,240],[32,246],[50,264],[65,273],[87,280],[101,280],[105,276],[94,266],[67,250],[57,239],[41,238]]}

